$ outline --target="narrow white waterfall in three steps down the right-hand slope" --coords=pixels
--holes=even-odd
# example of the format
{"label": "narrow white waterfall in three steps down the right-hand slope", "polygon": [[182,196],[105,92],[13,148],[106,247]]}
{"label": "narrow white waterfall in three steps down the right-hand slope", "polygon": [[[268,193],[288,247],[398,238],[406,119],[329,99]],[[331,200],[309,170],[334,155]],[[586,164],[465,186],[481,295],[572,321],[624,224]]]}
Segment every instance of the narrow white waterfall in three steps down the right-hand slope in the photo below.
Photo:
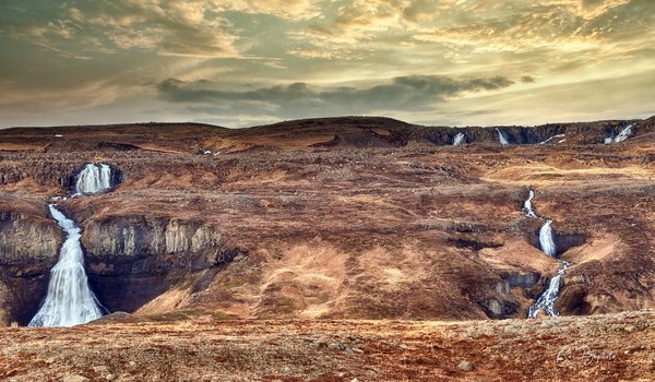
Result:
{"label": "narrow white waterfall in three steps down the right-hand slope", "polygon": [[[532,201],[535,198],[535,191],[529,189],[527,194],[527,200],[523,204],[523,212],[529,217],[539,218],[539,216],[535,213],[532,206]],[[555,244],[555,234],[552,231],[552,227],[550,226],[552,220],[546,219],[546,223],[539,229],[539,247],[541,251],[547,255],[557,259],[557,247]],[[558,260],[562,263],[562,266],[559,268],[557,275],[550,279],[548,283],[548,288],[539,296],[535,305],[529,307],[527,311],[528,319],[535,319],[541,310],[546,312],[546,314],[551,317],[558,317],[559,313],[555,310],[555,301],[559,296],[559,285],[562,276],[564,275],[564,271],[571,265],[563,260]]]}

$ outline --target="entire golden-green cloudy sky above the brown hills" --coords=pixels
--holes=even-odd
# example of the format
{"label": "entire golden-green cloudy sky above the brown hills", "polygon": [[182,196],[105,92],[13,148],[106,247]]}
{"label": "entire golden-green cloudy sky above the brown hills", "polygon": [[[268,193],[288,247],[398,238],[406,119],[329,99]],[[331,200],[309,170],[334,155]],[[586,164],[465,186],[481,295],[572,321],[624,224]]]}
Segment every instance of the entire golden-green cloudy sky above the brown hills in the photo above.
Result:
{"label": "entire golden-green cloudy sky above the brown hills", "polygon": [[0,0],[0,128],[655,115],[655,0]]}

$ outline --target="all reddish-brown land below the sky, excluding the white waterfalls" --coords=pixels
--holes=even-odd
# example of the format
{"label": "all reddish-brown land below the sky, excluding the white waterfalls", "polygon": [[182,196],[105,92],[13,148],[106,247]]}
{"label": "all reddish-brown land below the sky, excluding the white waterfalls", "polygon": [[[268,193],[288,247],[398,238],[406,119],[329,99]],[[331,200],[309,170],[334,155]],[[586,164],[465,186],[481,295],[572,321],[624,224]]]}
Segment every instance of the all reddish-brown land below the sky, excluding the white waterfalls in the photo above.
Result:
{"label": "all reddish-brown land below the sky, excluding the white waterfalls", "polygon": [[[90,162],[116,187],[59,205],[129,313],[0,329],[0,380],[655,379],[655,117],[500,129],[0,130],[0,323],[37,311],[63,241],[47,201]],[[525,319],[560,266],[529,188],[572,263],[560,318]]]}

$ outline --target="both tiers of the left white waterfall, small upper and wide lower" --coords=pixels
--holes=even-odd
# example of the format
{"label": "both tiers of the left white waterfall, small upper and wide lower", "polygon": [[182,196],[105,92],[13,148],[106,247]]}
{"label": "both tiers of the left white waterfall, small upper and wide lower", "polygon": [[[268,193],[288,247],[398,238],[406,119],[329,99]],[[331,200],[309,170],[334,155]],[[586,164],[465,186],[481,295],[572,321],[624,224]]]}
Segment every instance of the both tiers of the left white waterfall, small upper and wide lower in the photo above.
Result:
{"label": "both tiers of the left white waterfall, small upper and wide lower", "polygon": [[[76,194],[93,194],[111,188],[111,169],[104,164],[87,164],[78,176]],[[66,231],[59,260],[50,270],[48,294],[28,326],[72,326],[103,317],[97,298],[88,286],[84,271],[82,229],[66,217],[57,204],[48,204],[50,214]]]}

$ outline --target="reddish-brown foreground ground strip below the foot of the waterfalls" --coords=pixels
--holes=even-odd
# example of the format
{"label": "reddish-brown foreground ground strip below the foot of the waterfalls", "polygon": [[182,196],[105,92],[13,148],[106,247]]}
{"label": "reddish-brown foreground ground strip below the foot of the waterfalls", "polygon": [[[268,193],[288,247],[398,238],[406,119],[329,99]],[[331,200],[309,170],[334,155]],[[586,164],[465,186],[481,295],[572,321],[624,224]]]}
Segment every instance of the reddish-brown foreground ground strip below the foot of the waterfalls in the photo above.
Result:
{"label": "reddish-brown foreground ground strip below the foot of the waterfalls", "polygon": [[655,311],[468,322],[135,320],[2,329],[0,380],[655,379]]}

